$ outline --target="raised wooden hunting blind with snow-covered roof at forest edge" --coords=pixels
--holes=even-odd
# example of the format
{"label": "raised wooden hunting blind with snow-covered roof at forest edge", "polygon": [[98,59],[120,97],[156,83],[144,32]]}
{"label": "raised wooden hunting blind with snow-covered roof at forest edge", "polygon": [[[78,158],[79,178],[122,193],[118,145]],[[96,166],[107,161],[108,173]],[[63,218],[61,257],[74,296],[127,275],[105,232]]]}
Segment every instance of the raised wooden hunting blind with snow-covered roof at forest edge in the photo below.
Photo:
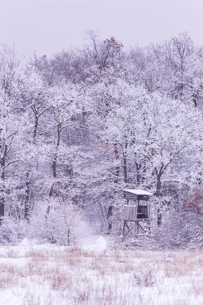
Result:
{"label": "raised wooden hunting blind with snow-covered roof at forest edge", "polygon": [[[150,204],[152,195],[143,190],[124,190],[123,231],[120,237],[150,235]],[[130,204],[129,204],[130,203]]]}

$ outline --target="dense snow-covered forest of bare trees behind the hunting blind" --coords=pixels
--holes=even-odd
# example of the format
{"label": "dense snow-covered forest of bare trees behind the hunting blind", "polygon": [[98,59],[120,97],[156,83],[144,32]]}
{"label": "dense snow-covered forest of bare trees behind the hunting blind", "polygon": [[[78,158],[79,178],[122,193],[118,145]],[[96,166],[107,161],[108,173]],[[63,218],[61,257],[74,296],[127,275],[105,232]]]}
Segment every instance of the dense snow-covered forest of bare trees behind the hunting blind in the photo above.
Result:
{"label": "dense snow-covered forest of bare trees behind the hunting blind", "polygon": [[187,33],[126,49],[87,31],[30,60],[2,45],[0,86],[2,245],[71,245],[81,223],[116,238],[128,188],[153,193],[151,249],[203,247],[203,47]]}

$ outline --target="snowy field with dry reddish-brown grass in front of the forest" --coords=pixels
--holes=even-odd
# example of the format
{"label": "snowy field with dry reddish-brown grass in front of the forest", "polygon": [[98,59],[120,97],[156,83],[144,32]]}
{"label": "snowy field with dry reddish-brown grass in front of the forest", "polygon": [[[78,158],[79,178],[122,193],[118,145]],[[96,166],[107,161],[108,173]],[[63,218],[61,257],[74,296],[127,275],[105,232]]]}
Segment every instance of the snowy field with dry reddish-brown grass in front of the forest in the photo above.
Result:
{"label": "snowy field with dry reddish-brown grass in front of the forest", "polygon": [[0,304],[203,304],[203,253],[0,247]]}

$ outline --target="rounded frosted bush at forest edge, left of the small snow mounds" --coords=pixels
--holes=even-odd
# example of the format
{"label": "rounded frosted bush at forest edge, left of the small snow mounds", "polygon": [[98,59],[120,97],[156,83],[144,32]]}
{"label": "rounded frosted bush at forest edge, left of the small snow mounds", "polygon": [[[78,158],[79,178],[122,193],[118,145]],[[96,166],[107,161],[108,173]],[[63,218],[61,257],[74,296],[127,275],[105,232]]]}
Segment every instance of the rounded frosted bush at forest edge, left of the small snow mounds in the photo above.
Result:
{"label": "rounded frosted bush at forest edge, left of the small snow mounds", "polygon": [[36,206],[30,220],[30,236],[41,242],[69,246],[80,237],[79,224],[82,213],[73,204],[52,198],[41,206]]}

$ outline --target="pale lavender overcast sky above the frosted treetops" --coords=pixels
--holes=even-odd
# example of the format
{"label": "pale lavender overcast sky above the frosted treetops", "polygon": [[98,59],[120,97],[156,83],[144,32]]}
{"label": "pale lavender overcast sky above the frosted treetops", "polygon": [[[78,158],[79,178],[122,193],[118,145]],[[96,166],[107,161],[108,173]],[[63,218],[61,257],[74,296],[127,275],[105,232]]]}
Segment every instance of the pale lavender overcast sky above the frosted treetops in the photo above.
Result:
{"label": "pale lavender overcast sky above the frosted treetops", "polygon": [[203,45],[202,0],[0,0],[0,42],[30,57],[81,46],[98,29],[124,46],[168,39],[188,31]]}

